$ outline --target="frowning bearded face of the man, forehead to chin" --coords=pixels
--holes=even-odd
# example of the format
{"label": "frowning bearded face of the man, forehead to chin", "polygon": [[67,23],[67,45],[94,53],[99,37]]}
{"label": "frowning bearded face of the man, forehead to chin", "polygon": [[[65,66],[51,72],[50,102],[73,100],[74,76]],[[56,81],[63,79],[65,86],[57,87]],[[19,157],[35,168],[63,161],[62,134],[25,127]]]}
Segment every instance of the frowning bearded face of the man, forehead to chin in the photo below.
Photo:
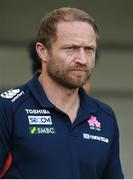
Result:
{"label": "frowning bearded face of the man, forehead to chin", "polygon": [[47,74],[56,83],[78,88],[89,79],[95,64],[96,34],[86,22],[60,22],[46,63]]}

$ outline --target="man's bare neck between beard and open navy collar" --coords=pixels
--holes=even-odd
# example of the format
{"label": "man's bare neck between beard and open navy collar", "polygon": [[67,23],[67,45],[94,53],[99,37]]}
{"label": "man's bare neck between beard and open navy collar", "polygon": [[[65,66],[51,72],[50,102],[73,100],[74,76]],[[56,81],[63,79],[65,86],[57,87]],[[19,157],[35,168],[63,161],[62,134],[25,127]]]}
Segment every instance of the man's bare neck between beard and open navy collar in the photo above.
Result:
{"label": "man's bare neck between beard and open navy collar", "polygon": [[58,109],[65,112],[71,122],[73,122],[77,116],[77,111],[80,104],[80,99],[77,89],[68,89],[59,84],[46,75],[40,75],[39,81],[45,91],[48,99]]}

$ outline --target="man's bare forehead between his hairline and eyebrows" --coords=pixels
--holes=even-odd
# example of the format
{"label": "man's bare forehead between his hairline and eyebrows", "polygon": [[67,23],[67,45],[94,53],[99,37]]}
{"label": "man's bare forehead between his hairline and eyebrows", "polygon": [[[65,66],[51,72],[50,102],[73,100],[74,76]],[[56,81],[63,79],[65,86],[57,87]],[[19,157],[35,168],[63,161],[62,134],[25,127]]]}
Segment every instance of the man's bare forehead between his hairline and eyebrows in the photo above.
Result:
{"label": "man's bare forehead between his hairline and eyebrows", "polygon": [[57,41],[67,43],[96,43],[96,33],[87,22],[60,22],[57,25]]}

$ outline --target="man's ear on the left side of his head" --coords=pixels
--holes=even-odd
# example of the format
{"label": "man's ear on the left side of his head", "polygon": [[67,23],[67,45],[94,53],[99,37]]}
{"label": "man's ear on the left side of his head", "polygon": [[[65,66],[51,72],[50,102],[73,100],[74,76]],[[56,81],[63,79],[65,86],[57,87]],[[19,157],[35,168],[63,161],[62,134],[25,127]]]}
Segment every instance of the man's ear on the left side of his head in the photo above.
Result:
{"label": "man's ear on the left side of his head", "polygon": [[37,52],[39,58],[43,62],[47,62],[48,51],[47,51],[47,49],[45,48],[45,46],[42,43],[40,43],[40,42],[36,43],[36,52]]}

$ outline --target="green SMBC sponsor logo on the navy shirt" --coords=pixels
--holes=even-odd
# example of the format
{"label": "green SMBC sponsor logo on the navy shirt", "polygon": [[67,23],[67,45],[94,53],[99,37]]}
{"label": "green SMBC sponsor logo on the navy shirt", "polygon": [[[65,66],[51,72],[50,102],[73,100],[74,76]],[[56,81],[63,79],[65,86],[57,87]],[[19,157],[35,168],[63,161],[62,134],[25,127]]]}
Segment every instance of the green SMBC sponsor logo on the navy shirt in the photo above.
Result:
{"label": "green SMBC sponsor logo on the navy shirt", "polygon": [[29,127],[30,134],[55,134],[53,127]]}

